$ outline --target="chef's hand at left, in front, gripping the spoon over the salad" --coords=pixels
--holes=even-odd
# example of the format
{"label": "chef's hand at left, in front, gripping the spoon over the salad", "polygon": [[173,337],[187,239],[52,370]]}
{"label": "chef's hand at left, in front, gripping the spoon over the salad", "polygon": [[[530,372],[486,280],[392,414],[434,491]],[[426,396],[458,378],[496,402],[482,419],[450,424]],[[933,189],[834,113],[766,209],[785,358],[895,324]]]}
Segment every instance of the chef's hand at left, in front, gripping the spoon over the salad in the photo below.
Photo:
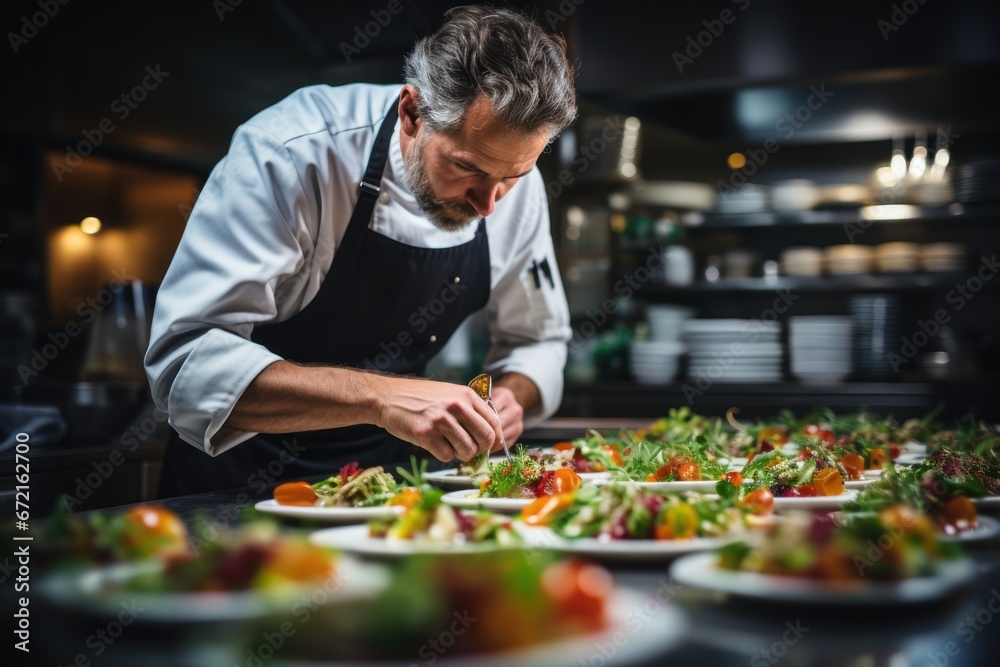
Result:
{"label": "chef's hand at left, in front, gripping the spoon over the salad", "polygon": [[426,449],[439,461],[468,461],[501,447],[500,423],[471,387],[398,377],[382,380],[377,425],[397,438]]}

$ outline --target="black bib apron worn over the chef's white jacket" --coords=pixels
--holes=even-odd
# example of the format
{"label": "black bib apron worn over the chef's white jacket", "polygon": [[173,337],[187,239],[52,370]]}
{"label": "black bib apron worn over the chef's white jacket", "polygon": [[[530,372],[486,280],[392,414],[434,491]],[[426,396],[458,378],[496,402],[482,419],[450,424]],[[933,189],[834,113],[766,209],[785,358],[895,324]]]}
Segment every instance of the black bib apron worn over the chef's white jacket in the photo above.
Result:
{"label": "black bib apron worn over the chef's white jacket", "polygon": [[[417,248],[368,228],[389,154],[397,104],[382,121],[344,238],[319,293],[299,313],[254,329],[252,340],[284,359],[422,376],[458,326],[486,306],[490,253],[486,220],[451,248]],[[219,456],[171,431],[160,497],[337,474],[344,464],[410,468],[423,449],[372,425],[260,434]],[[432,465],[431,468],[440,467]]]}

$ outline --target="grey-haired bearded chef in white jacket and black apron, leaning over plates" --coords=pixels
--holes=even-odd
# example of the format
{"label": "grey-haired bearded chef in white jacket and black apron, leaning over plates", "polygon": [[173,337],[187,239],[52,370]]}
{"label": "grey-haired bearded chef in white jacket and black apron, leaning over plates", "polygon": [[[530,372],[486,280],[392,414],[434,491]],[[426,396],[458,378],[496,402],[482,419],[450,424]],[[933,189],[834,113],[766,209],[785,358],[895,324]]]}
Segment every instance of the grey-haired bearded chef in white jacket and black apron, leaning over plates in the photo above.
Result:
{"label": "grey-haired bearded chef in white jacket and black apron, leaning over plates", "polygon": [[[300,89],[209,176],[145,359],[176,431],[161,496],[465,461],[558,407],[569,315],[535,162],[576,116],[565,45],[459,8],[404,80]],[[484,308],[497,413],[422,377]]]}

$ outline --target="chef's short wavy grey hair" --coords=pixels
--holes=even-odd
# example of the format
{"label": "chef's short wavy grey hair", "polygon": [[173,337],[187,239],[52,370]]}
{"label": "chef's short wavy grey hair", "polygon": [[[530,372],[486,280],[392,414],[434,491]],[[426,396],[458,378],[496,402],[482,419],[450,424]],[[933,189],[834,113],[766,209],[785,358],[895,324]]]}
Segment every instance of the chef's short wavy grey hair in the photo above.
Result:
{"label": "chef's short wavy grey hair", "polygon": [[511,10],[457,7],[406,57],[406,83],[431,131],[459,128],[469,106],[485,96],[510,129],[554,139],[576,118],[573,67],[566,42]]}

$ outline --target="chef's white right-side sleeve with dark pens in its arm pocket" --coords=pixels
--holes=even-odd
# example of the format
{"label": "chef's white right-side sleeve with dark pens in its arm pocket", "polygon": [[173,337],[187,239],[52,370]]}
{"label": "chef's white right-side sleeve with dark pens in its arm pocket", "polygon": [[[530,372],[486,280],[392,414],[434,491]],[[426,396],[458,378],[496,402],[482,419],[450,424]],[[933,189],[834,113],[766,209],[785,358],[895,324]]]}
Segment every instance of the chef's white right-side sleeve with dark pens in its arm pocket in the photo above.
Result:
{"label": "chef's white right-side sleeve with dark pens in its arm pocket", "polygon": [[525,413],[525,426],[530,427],[550,417],[562,402],[566,346],[572,332],[537,170],[525,185],[533,202],[524,207],[527,215],[520,218],[524,231],[487,306],[492,342],[485,370],[493,375],[521,373],[535,383],[542,402]]}

